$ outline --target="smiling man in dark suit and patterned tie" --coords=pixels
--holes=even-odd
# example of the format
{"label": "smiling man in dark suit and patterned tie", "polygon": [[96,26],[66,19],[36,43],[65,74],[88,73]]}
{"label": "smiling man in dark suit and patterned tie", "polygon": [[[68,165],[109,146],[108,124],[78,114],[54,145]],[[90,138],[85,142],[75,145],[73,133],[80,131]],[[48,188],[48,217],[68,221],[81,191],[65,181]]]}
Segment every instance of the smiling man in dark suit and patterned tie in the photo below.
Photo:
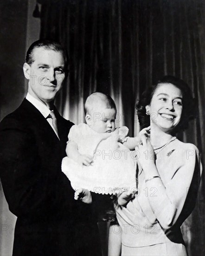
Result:
{"label": "smiling man in dark suit and patterned tie", "polygon": [[89,217],[79,220],[88,206],[74,200],[70,181],[61,172],[73,125],[54,106],[65,78],[64,49],[54,41],[38,40],[29,47],[23,69],[26,99],[0,123],[0,178],[9,209],[18,217],[13,255],[89,254],[84,248],[88,250],[90,240],[80,244],[78,239],[88,225],[74,234],[77,225],[81,229],[89,223]]}

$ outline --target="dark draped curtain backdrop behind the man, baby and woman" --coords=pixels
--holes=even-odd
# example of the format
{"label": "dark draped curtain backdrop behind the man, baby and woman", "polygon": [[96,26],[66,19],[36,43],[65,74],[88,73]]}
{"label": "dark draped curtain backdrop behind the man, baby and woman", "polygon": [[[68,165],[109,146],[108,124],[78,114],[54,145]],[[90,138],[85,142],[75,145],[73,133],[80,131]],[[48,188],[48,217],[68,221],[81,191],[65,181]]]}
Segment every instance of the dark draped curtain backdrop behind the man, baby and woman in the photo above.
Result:
{"label": "dark draped curtain backdrop behind the man, baby and woman", "polygon": [[[198,118],[179,135],[205,152],[204,0],[38,0],[41,38],[60,41],[70,58],[67,84],[56,105],[83,122],[86,97],[101,91],[117,106],[118,125],[139,131],[135,103],[165,74],[185,80],[198,101]],[[203,182],[195,211],[183,225],[190,255],[204,255]]]}

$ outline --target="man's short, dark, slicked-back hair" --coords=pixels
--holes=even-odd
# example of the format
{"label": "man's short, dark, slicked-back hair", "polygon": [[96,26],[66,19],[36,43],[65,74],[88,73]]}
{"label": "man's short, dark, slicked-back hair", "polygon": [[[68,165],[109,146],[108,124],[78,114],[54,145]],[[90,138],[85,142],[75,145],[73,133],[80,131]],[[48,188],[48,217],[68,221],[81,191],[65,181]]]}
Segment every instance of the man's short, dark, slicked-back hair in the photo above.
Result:
{"label": "man's short, dark, slicked-back hair", "polygon": [[47,39],[37,40],[33,42],[32,45],[28,48],[26,53],[26,63],[28,63],[29,65],[31,65],[33,61],[35,61],[33,58],[33,51],[36,48],[44,48],[44,49],[60,52],[63,55],[65,66],[67,65],[68,56],[65,49],[58,42],[53,40],[47,40]]}

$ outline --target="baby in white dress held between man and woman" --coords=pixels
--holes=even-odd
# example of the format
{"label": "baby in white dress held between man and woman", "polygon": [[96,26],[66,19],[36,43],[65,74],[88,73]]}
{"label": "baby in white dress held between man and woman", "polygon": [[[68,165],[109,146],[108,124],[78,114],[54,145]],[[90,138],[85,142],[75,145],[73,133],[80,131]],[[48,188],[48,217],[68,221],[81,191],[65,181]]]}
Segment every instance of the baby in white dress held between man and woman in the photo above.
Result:
{"label": "baby in white dress held between man and woman", "polygon": [[85,102],[87,124],[74,125],[68,135],[68,157],[62,171],[73,189],[85,188],[100,194],[136,190],[136,161],[130,150],[139,138],[127,137],[128,128],[115,128],[116,106],[103,93],[93,93]]}

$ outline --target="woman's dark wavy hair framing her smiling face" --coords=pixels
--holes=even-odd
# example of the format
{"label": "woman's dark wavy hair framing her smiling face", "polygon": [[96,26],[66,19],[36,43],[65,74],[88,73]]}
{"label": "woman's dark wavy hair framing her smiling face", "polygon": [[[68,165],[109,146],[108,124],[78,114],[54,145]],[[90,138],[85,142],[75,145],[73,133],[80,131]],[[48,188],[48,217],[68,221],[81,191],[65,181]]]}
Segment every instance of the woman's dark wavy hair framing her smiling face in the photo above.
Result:
{"label": "woman's dark wavy hair framing her smiling face", "polygon": [[150,105],[155,90],[162,83],[173,84],[176,88],[179,88],[182,93],[183,108],[181,120],[175,128],[174,132],[185,130],[188,127],[188,122],[196,117],[196,102],[195,99],[192,97],[192,91],[188,87],[186,82],[171,75],[164,76],[157,84],[148,87],[146,91],[141,94],[140,100],[136,104],[136,110],[140,126],[141,128],[145,128],[150,125],[150,116],[146,115],[146,106]]}

